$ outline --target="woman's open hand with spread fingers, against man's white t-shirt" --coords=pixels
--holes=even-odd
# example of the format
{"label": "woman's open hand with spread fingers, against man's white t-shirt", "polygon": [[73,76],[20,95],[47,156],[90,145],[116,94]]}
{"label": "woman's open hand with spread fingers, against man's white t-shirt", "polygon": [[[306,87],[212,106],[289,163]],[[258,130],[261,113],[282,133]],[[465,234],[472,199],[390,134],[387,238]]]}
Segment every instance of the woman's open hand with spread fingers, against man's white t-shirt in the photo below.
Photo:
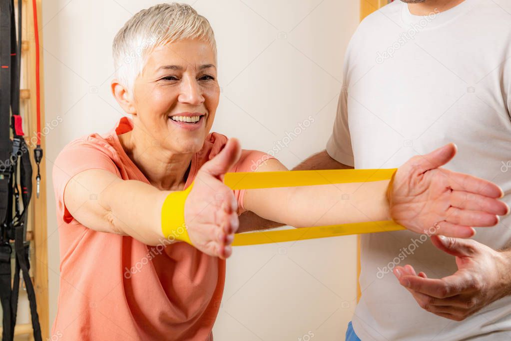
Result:
{"label": "woman's open hand with spread fingers, against man's white t-shirt", "polygon": [[448,144],[412,157],[394,175],[389,190],[390,216],[411,231],[469,238],[471,226],[493,226],[509,208],[497,200],[497,185],[471,175],[439,168],[456,154]]}

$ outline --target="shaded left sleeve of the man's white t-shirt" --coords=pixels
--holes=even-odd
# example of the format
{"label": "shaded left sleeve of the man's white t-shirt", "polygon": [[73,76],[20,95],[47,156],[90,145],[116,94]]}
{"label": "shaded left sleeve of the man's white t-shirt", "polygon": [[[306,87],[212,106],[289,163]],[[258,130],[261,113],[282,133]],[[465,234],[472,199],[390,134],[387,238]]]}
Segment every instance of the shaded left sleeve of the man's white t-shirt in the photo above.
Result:
{"label": "shaded left sleeve of the man's white t-shirt", "polygon": [[327,153],[337,162],[346,166],[354,166],[353,148],[350,135],[350,127],[348,125],[348,89],[349,89],[349,59],[353,38],[346,51],[343,66],[343,85],[339,94],[337,103],[337,114],[335,116],[334,128],[332,135],[327,142]]}

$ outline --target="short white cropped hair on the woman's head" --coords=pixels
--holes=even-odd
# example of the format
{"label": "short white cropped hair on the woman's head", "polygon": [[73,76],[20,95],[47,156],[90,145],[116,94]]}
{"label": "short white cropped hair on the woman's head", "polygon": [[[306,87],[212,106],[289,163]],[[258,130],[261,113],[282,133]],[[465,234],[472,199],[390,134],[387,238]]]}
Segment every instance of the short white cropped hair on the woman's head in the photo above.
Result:
{"label": "short white cropped hair on the woman's head", "polygon": [[133,15],[112,43],[115,77],[132,94],[149,53],[160,45],[183,39],[201,39],[217,53],[210,22],[187,4],[158,4]]}

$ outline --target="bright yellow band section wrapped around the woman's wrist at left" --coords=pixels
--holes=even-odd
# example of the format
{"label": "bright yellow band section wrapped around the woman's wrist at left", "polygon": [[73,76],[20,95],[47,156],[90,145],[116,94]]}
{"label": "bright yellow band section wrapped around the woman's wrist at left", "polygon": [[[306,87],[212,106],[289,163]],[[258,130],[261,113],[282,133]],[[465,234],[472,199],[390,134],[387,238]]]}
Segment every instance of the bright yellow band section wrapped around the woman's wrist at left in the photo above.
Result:
{"label": "bright yellow band section wrapped around the woman's wrist at left", "polygon": [[183,191],[170,193],[161,207],[161,232],[167,239],[174,238],[193,245],[184,223],[184,202],[192,190],[193,183]]}

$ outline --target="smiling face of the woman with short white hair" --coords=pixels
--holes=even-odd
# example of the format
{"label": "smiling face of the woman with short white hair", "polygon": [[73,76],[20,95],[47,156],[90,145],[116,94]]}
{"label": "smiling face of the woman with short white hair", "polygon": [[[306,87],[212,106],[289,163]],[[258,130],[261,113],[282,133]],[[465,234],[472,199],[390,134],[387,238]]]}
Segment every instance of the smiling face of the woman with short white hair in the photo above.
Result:
{"label": "smiling face of the woman with short white hair", "polygon": [[220,96],[213,48],[195,39],[155,48],[133,93],[135,124],[141,124],[154,143],[175,153],[199,151]]}

